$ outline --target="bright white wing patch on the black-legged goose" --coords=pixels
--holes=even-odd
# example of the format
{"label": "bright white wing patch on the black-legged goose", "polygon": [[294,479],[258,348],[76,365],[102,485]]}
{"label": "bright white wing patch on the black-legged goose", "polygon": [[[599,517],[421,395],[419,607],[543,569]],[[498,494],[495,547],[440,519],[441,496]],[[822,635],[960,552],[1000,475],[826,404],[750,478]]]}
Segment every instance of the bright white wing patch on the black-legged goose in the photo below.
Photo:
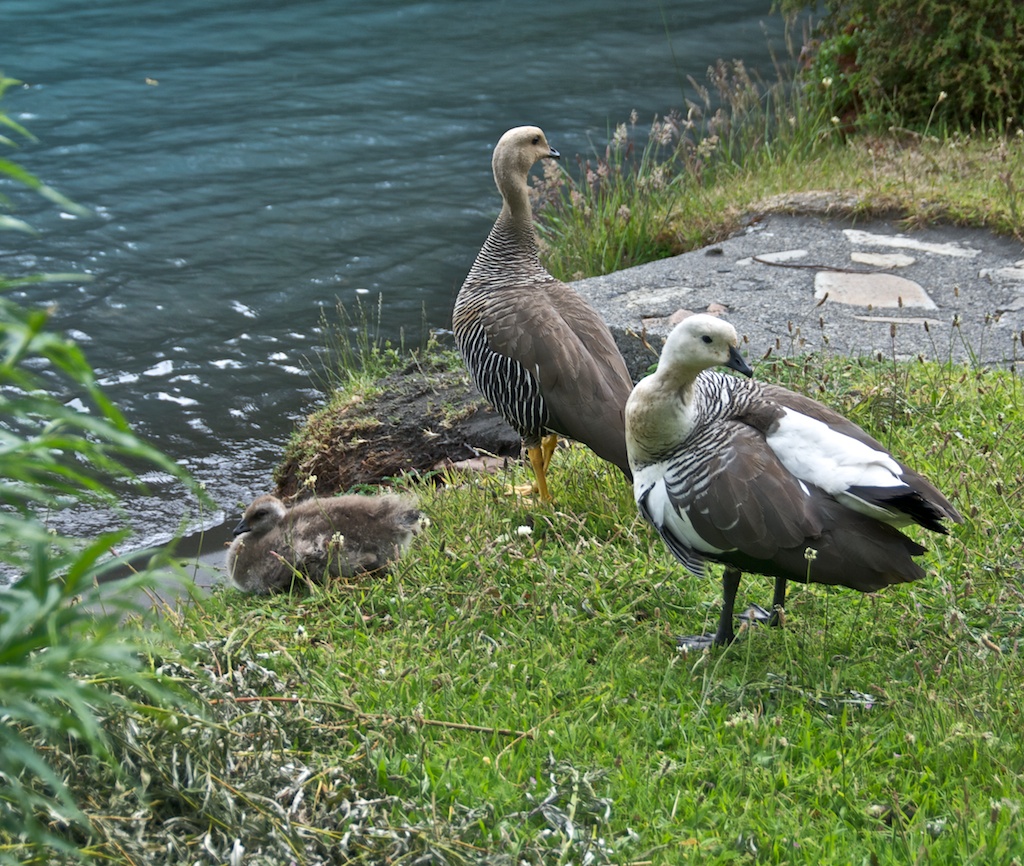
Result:
{"label": "bright white wing patch on the black-legged goose", "polygon": [[827,424],[785,409],[768,446],[797,478],[840,496],[851,487],[903,487],[899,464],[886,451]]}

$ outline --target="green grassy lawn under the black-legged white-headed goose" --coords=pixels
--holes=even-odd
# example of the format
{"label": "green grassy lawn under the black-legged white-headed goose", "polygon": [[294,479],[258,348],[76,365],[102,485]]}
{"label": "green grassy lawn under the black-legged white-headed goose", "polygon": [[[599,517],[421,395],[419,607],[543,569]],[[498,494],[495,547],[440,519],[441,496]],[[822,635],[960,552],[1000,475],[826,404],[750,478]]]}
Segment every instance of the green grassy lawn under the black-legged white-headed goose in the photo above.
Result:
{"label": "green grassy lawn under the black-legged white-headed goose", "polygon": [[[968,520],[918,533],[926,579],[868,596],[794,586],[784,629],[686,655],[675,637],[714,626],[718,581],[687,576],[586,449],[556,454],[554,507],[505,495],[518,466],[417,488],[432,526],[391,576],[271,598],[225,589],[181,614],[197,657],[174,669],[213,698],[216,724],[133,719],[119,754],[148,774],[148,800],[83,779],[94,850],[1020,861],[1017,376],[827,357],[757,375],[824,391],[951,495]],[[765,603],[770,581],[748,575],[740,594]],[[207,745],[185,748],[198,736]],[[118,816],[136,809],[148,823],[129,843]]]}

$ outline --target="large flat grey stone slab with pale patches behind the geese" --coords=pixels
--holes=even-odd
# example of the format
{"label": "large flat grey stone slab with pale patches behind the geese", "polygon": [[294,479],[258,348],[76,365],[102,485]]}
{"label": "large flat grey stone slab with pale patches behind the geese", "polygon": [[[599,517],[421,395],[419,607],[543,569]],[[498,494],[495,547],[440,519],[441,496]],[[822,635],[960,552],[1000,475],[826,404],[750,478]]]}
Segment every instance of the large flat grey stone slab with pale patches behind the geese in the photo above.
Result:
{"label": "large flat grey stone slab with pale patches behind the geese", "polygon": [[[853,239],[867,245],[851,243],[843,234],[845,229],[858,229]],[[888,353],[892,348],[889,322],[865,321],[859,316],[928,316],[930,332],[922,324],[897,321],[896,353],[901,356],[920,354],[969,363],[980,358],[984,363],[1004,365],[1019,357],[1024,282],[982,278],[978,272],[982,268],[993,272],[1000,268],[1024,270],[1024,244],[985,229],[955,226],[930,226],[905,235],[898,231],[893,223],[883,220],[858,218],[854,225],[818,216],[767,214],[719,241],[713,248],[715,255],[694,250],[574,285],[605,317],[634,378],[649,367],[651,348],[656,351],[660,347],[672,330],[676,310],[700,311],[712,303],[728,309],[727,317],[739,331],[743,351],[751,357],[761,357],[768,349],[778,350],[791,321],[801,331],[800,339],[786,347],[793,352],[825,351],[850,357],[871,356],[880,349]],[[881,239],[878,246],[872,239]],[[911,241],[920,243],[908,243]],[[759,265],[754,261],[792,250],[807,250],[807,256],[790,264]],[[923,252],[931,250],[954,251],[956,255]],[[980,252],[975,255],[975,250]],[[859,279],[866,283],[851,277],[859,296],[847,297],[845,302],[840,302],[838,285],[825,289],[819,282],[815,287],[819,298],[815,300],[812,284],[818,271],[836,268],[838,274],[877,269],[874,264],[851,263],[851,253],[903,254],[915,261],[897,270],[862,273]],[[737,262],[750,264],[737,267]],[[887,282],[897,275],[916,285]],[[865,287],[869,294],[865,294]],[[927,296],[920,287],[927,289]],[[829,292],[828,301],[822,303],[820,296],[825,291]],[[899,309],[901,297],[906,309]],[[915,302],[921,305],[912,306]],[[933,324],[932,318],[942,322],[941,327]],[[953,321],[956,339],[949,339]],[[938,335],[944,336],[939,339]]]}

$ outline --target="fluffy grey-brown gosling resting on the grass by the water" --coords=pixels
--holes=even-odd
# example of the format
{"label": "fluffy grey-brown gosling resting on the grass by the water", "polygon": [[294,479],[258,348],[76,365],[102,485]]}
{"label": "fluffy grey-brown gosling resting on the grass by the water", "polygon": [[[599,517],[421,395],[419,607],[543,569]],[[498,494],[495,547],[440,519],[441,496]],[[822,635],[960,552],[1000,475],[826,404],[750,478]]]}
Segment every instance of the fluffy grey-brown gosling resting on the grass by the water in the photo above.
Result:
{"label": "fluffy grey-brown gosling resting on the grass by the water", "polygon": [[288,508],[258,496],[234,527],[227,575],[244,593],[287,590],[296,576],[328,576],[385,569],[429,521],[406,496],[308,499]]}

